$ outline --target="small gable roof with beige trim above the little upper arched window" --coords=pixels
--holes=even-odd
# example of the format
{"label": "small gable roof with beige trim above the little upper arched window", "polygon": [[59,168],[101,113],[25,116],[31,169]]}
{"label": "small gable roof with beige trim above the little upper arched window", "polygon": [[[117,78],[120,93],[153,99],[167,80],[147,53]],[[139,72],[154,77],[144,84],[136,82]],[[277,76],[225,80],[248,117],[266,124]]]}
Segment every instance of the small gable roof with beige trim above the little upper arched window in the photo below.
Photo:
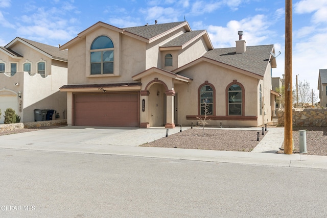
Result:
{"label": "small gable roof with beige trim above the little upper arched window", "polygon": [[189,45],[192,43],[194,40],[200,38],[201,36],[204,36],[204,40],[206,41],[209,50],[214,49],[209,36],[206,32],[206,30],[196,30],[196,31],[190,31],[190,32],[185,32],[176,38],[170,40],[164,45],[160,46],[160,51],[164,50],[178,50],[178,49],[183,49],[185,46]]}

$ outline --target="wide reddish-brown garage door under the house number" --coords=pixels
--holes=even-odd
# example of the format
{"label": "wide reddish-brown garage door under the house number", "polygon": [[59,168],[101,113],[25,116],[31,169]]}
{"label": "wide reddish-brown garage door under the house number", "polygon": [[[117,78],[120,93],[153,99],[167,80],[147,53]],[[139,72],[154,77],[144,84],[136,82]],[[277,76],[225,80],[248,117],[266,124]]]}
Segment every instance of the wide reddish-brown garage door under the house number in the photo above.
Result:
{"label": "wide reddish-brown garage door under the house number", "polygon": [[75,125],[138,127],[139,93],[75,94]]}

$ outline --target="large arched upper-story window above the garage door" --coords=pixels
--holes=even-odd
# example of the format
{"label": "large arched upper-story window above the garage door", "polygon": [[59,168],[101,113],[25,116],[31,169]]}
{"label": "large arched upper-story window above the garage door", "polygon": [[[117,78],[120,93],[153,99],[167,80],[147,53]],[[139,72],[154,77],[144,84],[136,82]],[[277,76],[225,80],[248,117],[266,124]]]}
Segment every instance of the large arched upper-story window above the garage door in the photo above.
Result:
{"label": "large arched upper-story window above the garage door", "polygon": [[113,43],[107,36],[97,37],[91,44],[91,75],[113,74]]}

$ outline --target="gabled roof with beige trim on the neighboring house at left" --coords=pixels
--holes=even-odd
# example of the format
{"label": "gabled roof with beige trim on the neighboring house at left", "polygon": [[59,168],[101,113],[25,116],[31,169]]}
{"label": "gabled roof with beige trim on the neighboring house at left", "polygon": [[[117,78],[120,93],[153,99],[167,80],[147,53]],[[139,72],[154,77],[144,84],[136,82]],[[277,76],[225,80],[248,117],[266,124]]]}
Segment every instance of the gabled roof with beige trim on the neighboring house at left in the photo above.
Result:
{"label": "gabled roof with beige trim on the neighboring house at left", "polygon": [[[12,51],[10,49],[10,47],[15,45],[18,42],[31,47],[32,49],[44,54],[45,56],[48,56],[51,59],[67,62],[68,51],[66,51],[66,50],[60,51],[58,47],[43,44],[43,43],[36,42],[36,41],[32,41],[29,39],[24,39],[21,37],[16,37],[14,40],[12,40],[10,43],[8,43],[5,46],[5,48],[9,51]],[[17,57],[19,57],[19,56],[17,56]],[[20,57],[22,57],[22,56],[20,56]]]}

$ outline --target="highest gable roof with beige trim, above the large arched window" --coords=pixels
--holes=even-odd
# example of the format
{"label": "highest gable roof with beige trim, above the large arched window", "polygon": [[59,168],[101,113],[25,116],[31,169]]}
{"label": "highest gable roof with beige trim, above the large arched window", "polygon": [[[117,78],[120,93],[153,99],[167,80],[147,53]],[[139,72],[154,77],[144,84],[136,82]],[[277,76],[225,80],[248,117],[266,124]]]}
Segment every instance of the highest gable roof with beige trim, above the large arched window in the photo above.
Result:
{"label": "highest gable roof with beige trim, above the large arched window", "polygon": [[78,36],[74,39],[66,42],[65,44],[60,46],[60,49],[67,49],[70,45],[74,44],[81,38],[84,38],[88,33],[100,28],[107,28],[116,32],[119,32],[124,35],[128,35],[130,37],[136,38],[138,40],[144,41],[146,43],[151,43],[162,36],[168,35],[175,30],[178,30],[181,27],[184,27],[186,31],[191,31],[189,23],[187,21],[182,22],[171,22],[171,23],[161,23],[156,25],[145,25],[139,27],[129,27],[129,28],[118,28],[108,23],[97,22],[95,25],[87,28],[81,33],[77,34]]}

